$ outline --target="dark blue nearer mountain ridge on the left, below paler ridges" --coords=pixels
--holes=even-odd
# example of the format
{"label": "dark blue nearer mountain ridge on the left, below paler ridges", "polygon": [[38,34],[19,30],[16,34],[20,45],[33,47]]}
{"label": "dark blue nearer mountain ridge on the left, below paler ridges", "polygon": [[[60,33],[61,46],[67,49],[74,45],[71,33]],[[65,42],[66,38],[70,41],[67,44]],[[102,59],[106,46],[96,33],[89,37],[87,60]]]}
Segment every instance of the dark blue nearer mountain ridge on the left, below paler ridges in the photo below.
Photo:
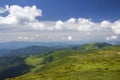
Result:
{"label": "dark blue nearer mountain ridge on the left, below paler ridges", "polygon": [[57,49],[56,47],[44,47],[44,46],[29,46],[29,47],[13,49],[13,50],[1,49],[0,57],[13,56],[13,55],[26,57],[29,55],[36,55],[36,54],[50,52],[56,49]]}

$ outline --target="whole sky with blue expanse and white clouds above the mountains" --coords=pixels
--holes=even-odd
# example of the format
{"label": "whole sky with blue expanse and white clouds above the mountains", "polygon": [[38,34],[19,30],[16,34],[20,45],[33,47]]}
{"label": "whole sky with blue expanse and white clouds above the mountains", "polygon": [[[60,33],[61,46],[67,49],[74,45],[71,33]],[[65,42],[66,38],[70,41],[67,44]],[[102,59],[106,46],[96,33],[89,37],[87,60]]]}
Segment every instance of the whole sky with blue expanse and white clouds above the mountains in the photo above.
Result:
{"label": "whole sky with blue expanse and white clouds above the mountains", "polygon": [[0,0],[0,42],[120,41],[120,0]]}

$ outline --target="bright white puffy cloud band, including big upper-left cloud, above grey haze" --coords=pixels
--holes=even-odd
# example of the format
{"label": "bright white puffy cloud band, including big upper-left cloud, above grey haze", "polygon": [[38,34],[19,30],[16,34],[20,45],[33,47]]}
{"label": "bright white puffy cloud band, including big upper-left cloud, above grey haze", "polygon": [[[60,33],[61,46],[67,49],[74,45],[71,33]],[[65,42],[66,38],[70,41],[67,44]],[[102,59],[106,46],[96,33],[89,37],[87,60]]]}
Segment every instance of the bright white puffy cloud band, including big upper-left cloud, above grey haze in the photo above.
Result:
{"label": "bright white puffy cloud band, including big upper-left cloud, above grey haze", "polygon": [[91,19],[85,18],[70,18],[66,21],[50,21],[40,22],[36,17],[42,16],[42,10],[36,6],[6,5],[5,8],[0,8],[0,13],[8,12],[7,16],[0,16],[0,25],[15,25],[28,27],[33,30],[73,30],[73,31],[113,31],[115,34],[120,34],[120,20],[110,22],[107,20],[101,22],[93,22]]}

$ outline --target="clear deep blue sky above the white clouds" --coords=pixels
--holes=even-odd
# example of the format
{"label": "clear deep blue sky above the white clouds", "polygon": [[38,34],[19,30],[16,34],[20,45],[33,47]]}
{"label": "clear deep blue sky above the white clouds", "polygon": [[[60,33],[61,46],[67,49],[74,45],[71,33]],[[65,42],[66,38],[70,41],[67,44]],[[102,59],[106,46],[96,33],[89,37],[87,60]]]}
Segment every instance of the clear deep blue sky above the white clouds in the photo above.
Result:
{"label": "clear deep blue sky above the white clouds", "polygon": [[36,5],[43,10],[40,20],[83,17],[94,21],[115,21],[120,18],[120,0],[0,0],[0,5]]}

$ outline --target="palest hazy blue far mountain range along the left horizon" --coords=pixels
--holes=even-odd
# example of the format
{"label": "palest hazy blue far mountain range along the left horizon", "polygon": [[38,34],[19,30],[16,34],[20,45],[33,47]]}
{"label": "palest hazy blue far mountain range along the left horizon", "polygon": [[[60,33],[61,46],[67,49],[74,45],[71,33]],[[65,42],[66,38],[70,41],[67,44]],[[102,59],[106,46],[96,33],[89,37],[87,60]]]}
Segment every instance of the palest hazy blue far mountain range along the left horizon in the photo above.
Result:
{"label": "palest hazy blue far mountain range along the left horizon", "polygon": [[67,42],[19,42],[19,41],[13,41],[13,42],[1,42],[0,43],[0,49],[18,49],[18,48],[24,48],[29,46],[45,46],[45,47],[66,47],[73,43],[67,43]]}

